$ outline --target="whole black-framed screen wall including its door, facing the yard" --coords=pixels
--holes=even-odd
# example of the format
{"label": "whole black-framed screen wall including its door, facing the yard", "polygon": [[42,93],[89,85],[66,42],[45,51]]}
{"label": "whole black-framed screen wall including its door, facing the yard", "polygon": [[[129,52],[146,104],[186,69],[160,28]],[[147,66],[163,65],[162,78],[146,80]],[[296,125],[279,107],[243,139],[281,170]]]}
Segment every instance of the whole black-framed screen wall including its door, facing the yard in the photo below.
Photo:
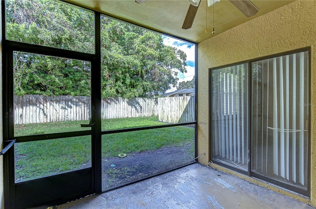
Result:
{"label": "whole black-framed screen wall including its door, facing the yard", "polygon": [[196,162],[196,92],[164,95],[185,82],[178,73],[195,86],[186,56],[196,62],[195,43],[64,1],[1,3],[3,138],[15,142],[3,160],[6,208],[72,201]]}

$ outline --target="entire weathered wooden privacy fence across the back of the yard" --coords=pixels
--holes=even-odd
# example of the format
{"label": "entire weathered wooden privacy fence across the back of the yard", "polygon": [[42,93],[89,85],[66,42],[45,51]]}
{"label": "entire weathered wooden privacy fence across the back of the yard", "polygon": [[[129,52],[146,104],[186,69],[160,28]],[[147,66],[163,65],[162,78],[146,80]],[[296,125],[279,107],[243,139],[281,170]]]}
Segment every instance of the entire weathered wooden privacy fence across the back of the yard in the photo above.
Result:
{"label": "entire weathered wooden privacy fence across the back of the yard", "polygon": [[[195,121],[194,96],[159,98],[107,98],[101,100],[102,119],[156,116],[167,123]],[[88,120],[88,96],[14,96],[14,123]]]}

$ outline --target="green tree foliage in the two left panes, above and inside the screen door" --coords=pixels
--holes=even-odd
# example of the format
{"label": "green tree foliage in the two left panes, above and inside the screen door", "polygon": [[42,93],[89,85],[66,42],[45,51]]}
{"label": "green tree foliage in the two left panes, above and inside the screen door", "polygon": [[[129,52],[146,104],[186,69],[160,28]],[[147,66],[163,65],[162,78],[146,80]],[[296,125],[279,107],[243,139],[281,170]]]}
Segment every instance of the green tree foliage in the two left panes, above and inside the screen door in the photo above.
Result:
{"label": "green tree foliage in the two left panes, above and inside the screen door", "polygon": [[[94,52],[92,12],[50,0],[8,0],[6,11],[9,40]],[[17,95],[90,95],[85,61],[15,52],[13,72]]]}

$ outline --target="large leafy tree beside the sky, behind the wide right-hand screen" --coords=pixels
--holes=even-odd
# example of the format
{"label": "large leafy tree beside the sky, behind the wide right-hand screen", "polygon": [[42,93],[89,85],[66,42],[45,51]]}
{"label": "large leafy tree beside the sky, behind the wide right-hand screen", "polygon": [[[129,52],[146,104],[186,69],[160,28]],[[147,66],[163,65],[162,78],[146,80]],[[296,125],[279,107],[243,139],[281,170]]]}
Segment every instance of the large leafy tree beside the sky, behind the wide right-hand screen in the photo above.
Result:
{"label": "large leafy tree beside the sky, behind the wide right-hand screen", "polygon": [[176,86],[186,54],[163,45],[162,36],[102,18],[102,96],[149,97]]}

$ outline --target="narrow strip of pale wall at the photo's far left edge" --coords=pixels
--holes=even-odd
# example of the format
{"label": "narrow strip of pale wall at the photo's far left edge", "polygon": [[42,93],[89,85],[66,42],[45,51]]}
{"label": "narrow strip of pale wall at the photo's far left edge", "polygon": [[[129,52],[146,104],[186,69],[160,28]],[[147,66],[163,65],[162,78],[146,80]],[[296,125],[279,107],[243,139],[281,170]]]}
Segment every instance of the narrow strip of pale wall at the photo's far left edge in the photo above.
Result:
{"label": "narrow strip of pale wall at the photo's far left edge", "polygon": [[[2,149],[2,22],[0,2],[0,149]],[[4,208],[3,199],[3,156],[0,156],[0,209]]]}

